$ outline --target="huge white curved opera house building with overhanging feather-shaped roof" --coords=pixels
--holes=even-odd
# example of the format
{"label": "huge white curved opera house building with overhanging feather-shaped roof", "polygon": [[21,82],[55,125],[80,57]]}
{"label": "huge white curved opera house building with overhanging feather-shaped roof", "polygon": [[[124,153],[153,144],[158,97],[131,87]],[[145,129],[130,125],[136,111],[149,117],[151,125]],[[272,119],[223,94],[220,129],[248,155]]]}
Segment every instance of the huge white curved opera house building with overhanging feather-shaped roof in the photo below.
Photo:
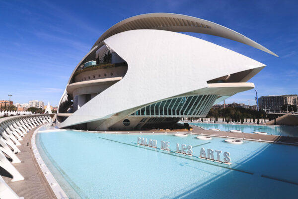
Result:
{"label": "huge white curved opera house building with overhanging feather-shaped roof", "polygon": [[57,125],[90,130],[170,128],[254,88],[265,65],[178,32],[211,34],[277,56],[216,23],[171,13],[125,19],[108,29],[75,67]]}

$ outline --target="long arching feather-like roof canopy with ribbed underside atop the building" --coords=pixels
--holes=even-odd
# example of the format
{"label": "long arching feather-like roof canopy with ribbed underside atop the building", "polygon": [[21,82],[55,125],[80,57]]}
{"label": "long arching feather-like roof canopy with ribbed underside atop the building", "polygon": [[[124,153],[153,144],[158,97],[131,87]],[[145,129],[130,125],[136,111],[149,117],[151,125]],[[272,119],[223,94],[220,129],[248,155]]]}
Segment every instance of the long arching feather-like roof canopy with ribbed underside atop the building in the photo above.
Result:
{"label": "long arching feather-like roof canopy with ribbed underside atop the building", "polygon": [[157,29],[173,32],[196,32],[210,34],[247,44],[278,57],[277,54],[268,50],[264,46],[222,25],[192,16],[173,13],[142,14],[120,21],[105,31],[95,42],[92,48],[112,35],[137,29]]}

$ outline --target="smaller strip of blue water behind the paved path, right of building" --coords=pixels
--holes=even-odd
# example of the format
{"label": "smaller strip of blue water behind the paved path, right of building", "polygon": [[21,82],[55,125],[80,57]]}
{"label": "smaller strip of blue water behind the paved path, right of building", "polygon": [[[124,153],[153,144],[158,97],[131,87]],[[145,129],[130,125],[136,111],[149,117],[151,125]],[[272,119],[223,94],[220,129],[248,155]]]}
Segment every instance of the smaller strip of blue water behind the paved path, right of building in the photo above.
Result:
{"label": "smaller strip of blue water behind the paved path, right of building", "polygon": [[244,133],[253,133],[253,131],[266,132],[272,135],[282,135],[298,137],[298,126],[263,126],[246,124],[217,124],[217,123],[189,123],[190,125],[200,126],[205,129],[219,128],[222,131],[241,130]]}

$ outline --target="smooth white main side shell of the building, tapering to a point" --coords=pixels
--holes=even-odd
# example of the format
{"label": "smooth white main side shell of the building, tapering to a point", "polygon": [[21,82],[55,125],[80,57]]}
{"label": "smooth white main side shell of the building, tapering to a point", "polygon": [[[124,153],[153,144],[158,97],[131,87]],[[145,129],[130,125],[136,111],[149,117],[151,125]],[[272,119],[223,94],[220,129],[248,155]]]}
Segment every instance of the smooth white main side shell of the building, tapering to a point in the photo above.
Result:
{"label": "smooth white main side shell of the building, tapering to a point", "polygon": [[[126,75],[58,122],[58,127],[105,120],[100,128],[107,129],[138,107],[181,95],[215,94],[223,100],[254,85],[246,81],[209,85],[207,81],[245,70],[252,70],[254,75],[265,67],[219,45],[171,31],[124,31],[104,43],[127,62]],[[116,113],[115,118],[108,119]]]}

